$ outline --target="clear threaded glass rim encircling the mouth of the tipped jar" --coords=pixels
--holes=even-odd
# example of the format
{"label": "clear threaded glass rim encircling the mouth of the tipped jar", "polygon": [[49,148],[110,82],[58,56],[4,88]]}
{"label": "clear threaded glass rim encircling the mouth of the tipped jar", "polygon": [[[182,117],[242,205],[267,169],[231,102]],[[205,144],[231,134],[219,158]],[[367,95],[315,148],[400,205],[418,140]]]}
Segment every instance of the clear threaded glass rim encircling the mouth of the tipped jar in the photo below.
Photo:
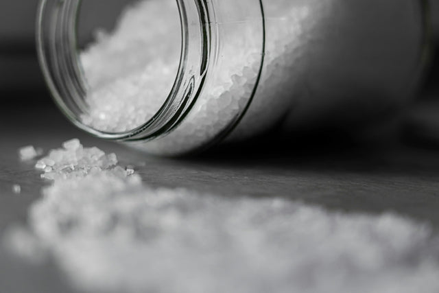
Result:
{"label": "clear threaded glass rim encircling the mouth of the tipped jar", "polygon": [[[81,0],[42,0],[38,8],[37,45],[40,65],[52,96],[68,119],[95,137],[117,141],[155,139],[174,128],[195,102],[204,82],[210,55],[209,21],[204,1],[176,0],[180,16],[181,45],[178,69],[167,97],[150,117],[127,129],[106,130],[86,121],[91,105],[90,84],[78,53],[78,13]],[[194,17],[195,16],[195,17]],[[189,24],[189,19],[193,22]],[[154,28],[152,28],[154,30]],[[198,42],[199,43],[198,43]],[[201,52],[200,52],[201,48]],[[166,93],[164,93],[165,95]],[[138,105],[132,105],[137,107]],[[123,109],[122,109],[123,110]],[[84,119],[85,117],[85,119]]]}

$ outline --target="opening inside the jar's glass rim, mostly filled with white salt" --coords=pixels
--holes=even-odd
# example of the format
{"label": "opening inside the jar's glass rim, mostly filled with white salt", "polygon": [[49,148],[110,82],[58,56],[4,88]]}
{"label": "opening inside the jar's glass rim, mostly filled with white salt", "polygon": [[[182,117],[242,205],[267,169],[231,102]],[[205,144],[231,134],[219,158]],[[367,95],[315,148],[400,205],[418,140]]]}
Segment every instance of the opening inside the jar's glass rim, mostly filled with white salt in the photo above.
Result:
{"label": "opening inside the jar's glass rim, mostly filled with white salt", "polygon": [[102,132],[132,131],[150,121],[169,97],[180,65],[176,1],[122,2],[128,3],[111,31],[91,28],[93,1],[82,1],[78,13],[77,58],[86,84],[80,120]]}

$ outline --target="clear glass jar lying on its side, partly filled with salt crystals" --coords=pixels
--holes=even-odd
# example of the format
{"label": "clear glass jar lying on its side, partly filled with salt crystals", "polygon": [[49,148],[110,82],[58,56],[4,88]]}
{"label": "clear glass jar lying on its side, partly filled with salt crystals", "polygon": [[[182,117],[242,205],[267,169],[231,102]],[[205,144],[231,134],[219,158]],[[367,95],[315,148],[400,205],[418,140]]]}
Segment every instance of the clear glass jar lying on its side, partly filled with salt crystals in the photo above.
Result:
{"label": "clear glass jar lying on its side, partly filled with salt crystals", "polygon": [[[128,50],[126,62],[120,56],[112,60],[113,50],[107,62],[99,62],[104,53],[96,51],[89,58],[94,63],[85,65],[77,31],[85,2],[40,2],[38,51],[51,93],[79,128],[154,154],[186,154],[273,129],[289,135],[315,125],[355,132],[380,128],[407,106],[428,56],[427,8],[421,0],[143,1],[132,8],[137,15],[123,14],[134,26],[125,24],[127,31],[119,32],[113,47],[142,44],[150,54],[147,62],[162,62],[163,45],[170,44],[164,37],[177,36],[168,25],[174,21],[171,9],[178,13],[181,38],[178,64],[163,66],[168,84],[172,77],[169,90],[151,91],[165,97],[148,104],[149,97],[137,97],[165,79],[155,77],[160,65],[136,71],[128,83],[107,77],[104,90],[93,89],[103,79],[95,74],[91,85],[88,71],[117,72],[143,57]],[[135,19],[158,25],[145,30]],[[123,20],[119,24],[123,27]],[[137,30],[150,43],[131,38],[121,43]],[[116,35],[107,34],[95,49]],[[158,49],[150,49],[154,44]],[[139,85],[142,76],[148,86]],[[146,108],[151,113],[146,115]]]}

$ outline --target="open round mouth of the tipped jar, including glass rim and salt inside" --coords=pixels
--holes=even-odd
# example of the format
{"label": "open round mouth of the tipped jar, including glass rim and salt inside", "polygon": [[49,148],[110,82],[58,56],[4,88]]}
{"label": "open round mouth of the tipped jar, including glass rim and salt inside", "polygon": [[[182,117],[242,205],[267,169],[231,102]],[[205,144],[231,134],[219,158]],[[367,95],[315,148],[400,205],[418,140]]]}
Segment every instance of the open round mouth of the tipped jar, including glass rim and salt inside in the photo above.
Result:
{"label": "open round mouth of the tipped jar, including glass rim and salt inside", "polygon": [[95,30],[91,6],[102,9],[102,1],[40,1],[40,64],[56,104],[82,130],[111,140],[154,139],[180,121],[203,84],[211,40],[200,30],[208,22],[205,6],[106,5],[113,2],[118,21]]}

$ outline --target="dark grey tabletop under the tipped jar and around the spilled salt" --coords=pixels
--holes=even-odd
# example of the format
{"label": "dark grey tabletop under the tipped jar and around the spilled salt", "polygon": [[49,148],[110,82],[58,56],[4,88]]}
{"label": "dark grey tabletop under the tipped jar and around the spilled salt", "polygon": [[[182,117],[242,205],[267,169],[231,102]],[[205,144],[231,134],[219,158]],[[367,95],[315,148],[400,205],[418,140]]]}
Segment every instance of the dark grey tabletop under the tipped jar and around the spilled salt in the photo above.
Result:
{"label": "dark grey tabletop under the tipped jar and around the spilled salt", "polygon": [[[123,145],[100,141],[70,126],[53,106],[12,105],[0,110],[0,233],[25,223],[29,205],[44,182],[32,163],[20,162],[23,145],[50,150],[73,137],[84,145],[116,152],[137,166],[145,183],[187,187],[218,196],[283,196],[348,212],[394,211],[439,229],[439,152],[404,145],[338,152],[293,149],[159,159]],[[324,150],[325,147],[321,146]],[[13,194],[12,185],[22,192]],[[32,266],[0,250],[0,293],[71,292],[56,266]]]}

